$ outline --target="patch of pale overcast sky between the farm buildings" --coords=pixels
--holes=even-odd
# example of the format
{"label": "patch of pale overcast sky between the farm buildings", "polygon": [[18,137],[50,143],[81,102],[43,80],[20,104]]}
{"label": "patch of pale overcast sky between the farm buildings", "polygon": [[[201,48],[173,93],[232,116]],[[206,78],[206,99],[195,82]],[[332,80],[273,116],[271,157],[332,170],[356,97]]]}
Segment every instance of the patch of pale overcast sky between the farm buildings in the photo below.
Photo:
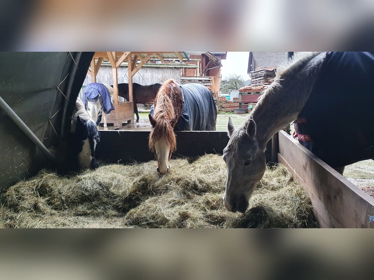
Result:
{"label": "patch of pale overcast sky between the farm buildings", "polygon": [[226,60],[221,60],[222,79],[232,74],[242,76],[243,80],[249,80],[247,74],[249,52],[227,52]]}

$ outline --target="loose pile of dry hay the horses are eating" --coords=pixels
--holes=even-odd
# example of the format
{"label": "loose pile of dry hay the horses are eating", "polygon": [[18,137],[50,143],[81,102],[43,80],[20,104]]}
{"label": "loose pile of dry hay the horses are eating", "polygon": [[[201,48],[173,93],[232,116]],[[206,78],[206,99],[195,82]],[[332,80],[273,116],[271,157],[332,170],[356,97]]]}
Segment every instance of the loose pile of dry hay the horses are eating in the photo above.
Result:
{"label": "loose pile of dry hay the horses are eating", "polygon": [[287,170],[268,168],[250,209],[230,213],[222,203],[226,167],[219,155],[110,164],[74,176],[42,170],[0,198],[0,227],[316,227],[308,196]]}

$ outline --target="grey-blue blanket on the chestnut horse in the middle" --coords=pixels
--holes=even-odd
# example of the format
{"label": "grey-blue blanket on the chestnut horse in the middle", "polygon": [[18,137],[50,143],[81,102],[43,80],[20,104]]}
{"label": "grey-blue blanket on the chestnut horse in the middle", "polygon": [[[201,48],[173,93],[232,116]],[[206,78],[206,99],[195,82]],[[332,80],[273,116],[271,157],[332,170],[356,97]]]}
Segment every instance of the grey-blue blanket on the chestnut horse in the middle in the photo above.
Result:
{"label": "grey-blue blanket on the chestnut horse in the middle", "polygon": [[215,130],[217,108],[208,89],[198,83],[187,83],[179,87],[182,91],[183,107],[174,130]]}

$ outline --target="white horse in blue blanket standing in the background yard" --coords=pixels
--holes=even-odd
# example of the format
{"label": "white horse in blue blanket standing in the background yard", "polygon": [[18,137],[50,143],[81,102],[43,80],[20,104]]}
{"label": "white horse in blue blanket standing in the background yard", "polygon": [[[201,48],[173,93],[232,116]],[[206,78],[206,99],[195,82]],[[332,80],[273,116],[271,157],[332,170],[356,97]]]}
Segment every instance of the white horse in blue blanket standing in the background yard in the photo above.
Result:
{"label": "white horse in blue blanket standing in the background yard", "polygon": [[89,83],[84,88],[82,100],[91,119],[99,124],[103,117],[104,129],[107,130],[106,115],[114,110],[113,88],[105,83]]}

